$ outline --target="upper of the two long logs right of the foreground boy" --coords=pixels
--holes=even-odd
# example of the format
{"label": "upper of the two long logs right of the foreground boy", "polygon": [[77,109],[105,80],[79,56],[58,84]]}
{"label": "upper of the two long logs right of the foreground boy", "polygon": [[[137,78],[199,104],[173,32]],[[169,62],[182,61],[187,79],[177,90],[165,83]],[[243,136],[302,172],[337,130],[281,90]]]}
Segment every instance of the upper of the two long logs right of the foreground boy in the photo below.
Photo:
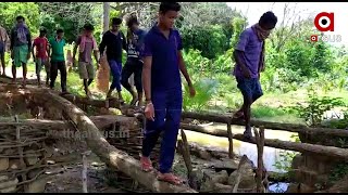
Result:
{"label": "upper of the two long logs right of the foreground boy", "polygon": [[[200,113],[189,113],[183,112],[182,118],[192,118],[198,120],[222,122],[231,125],[244,126],[245,122],[240,119],[234,119],[229,116],[224,116],[221,114],[200,114]],[[295,123],[283,123],[283,122],[271,122],[251,119],[251,126],[261,127],[263,126],[265,130],[284,130],[289,132],[298,132],[304,134],[323,134],[323,135],[335,135],[335,136],[348,136],[348,131],[344,129],[330,129],[330,128],[311,128],[304,125]]]}

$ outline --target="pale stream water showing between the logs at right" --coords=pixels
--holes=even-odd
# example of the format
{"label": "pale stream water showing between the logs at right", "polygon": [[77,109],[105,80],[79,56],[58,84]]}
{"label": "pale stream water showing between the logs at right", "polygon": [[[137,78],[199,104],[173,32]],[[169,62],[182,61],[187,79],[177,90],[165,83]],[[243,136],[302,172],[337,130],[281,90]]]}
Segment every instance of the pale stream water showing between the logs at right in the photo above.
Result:
{"label": "pale stream water showing between the logs at right", "polygon": [[[223,123],[213,123],[211,126],[208,126],[209,128],[214,129],[225,129],[226,125]],[[232,126],[232,132],[233,133],[243,133],[244,127],[241,126]],[[196,142],[198,144],[204,145],[204,146],[214,146],[220,147],[222,150],[228,151],[228,140],[227,138],[219,138],[213,136],[209,134],[203,134],[199,132],[194,131],[185,131],[187,135],[187,140],[189,142]],[[291,141],[291,135],[297,133],[291,133],[287,131],[277,131],[277,130],[265,130],[264,131],[264,138],[265,139],[278,139],[282,141]],[[250,144],[247,142],[241,142],[238,140],[234,140],[234,153],[238,156],[247,155],[250,160],[253,161],[254,165],[257,165],[258,160],[258,153],[257,153],[257,145]],[[285,150],[279,148],[273,148],[265,146],[263,148],[263,164],[269,171],[273,172],[285,172],[285,170],[279,170],[275,167],[275,162],[281,160],[281,154],[282,152],[285,152]],[[288,183],[275,183],[273,185],[270,185],[270,191],[282,193],[285,192],[288,187]]]}

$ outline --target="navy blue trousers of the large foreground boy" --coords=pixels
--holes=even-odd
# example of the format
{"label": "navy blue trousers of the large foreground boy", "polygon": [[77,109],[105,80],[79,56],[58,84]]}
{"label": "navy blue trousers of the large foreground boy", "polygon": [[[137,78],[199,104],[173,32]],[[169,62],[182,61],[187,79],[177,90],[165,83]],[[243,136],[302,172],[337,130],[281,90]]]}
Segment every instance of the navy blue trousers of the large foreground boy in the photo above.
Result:
{"label": "navy blue trousers of the large foreground boy", "polygon": [[147,120],[142,140],[142,156],[150,156],[161,131],[160,172],[171,171],[178,128],[182,118],[183,93],[182,90],[152,91],[154,107],[154,121]]}

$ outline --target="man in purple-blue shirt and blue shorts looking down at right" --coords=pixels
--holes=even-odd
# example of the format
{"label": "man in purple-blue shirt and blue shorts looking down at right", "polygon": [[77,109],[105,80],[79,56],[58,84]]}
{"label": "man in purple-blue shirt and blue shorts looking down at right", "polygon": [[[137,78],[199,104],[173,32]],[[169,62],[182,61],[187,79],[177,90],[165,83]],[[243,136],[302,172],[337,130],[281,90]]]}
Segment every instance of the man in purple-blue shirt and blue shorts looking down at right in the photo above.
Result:
{"label": "man in purple-blue shirt and blue shorts looking down at right", "polygon": [[234,75],[237,79],[244,104],[234,118],[244,118],[246,139],[252,136],[250,125],[251,104],[262,96],[260,72],[264,70],[264,40],[275,27],[277,17],[273,12],[264,13],[259,23],[240,34],[239,42],[234,51],[236,66]]}

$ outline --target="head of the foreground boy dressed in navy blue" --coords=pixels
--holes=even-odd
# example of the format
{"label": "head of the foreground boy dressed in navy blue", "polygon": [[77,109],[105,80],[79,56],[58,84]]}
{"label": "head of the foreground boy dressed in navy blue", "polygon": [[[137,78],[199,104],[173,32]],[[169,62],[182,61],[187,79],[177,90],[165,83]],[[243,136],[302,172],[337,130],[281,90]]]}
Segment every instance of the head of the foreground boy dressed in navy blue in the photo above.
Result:
{"label": "head of the foreground boy dressed in navy blue", "polygon": [[181,11],[181,4],[177,2],[161,2],[159,12],[159,23],[165,28],[172,28]]}

